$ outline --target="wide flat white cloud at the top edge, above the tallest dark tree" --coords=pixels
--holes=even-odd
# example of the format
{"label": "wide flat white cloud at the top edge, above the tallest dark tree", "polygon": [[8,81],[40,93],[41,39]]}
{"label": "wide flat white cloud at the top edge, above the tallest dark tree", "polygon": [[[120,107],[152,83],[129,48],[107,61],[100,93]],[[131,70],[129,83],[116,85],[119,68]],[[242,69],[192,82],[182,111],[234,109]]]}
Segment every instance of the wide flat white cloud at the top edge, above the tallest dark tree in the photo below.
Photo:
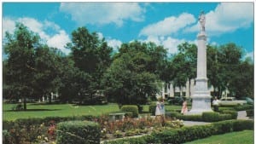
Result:
{"label": "wide flat white cloud at the top edge, above the tallest dark tree", "polygon": [[142,21],[144,9],[138,3],[61,3],[60,10],[71,14],[79,25],[122,26],[124,20]]}

